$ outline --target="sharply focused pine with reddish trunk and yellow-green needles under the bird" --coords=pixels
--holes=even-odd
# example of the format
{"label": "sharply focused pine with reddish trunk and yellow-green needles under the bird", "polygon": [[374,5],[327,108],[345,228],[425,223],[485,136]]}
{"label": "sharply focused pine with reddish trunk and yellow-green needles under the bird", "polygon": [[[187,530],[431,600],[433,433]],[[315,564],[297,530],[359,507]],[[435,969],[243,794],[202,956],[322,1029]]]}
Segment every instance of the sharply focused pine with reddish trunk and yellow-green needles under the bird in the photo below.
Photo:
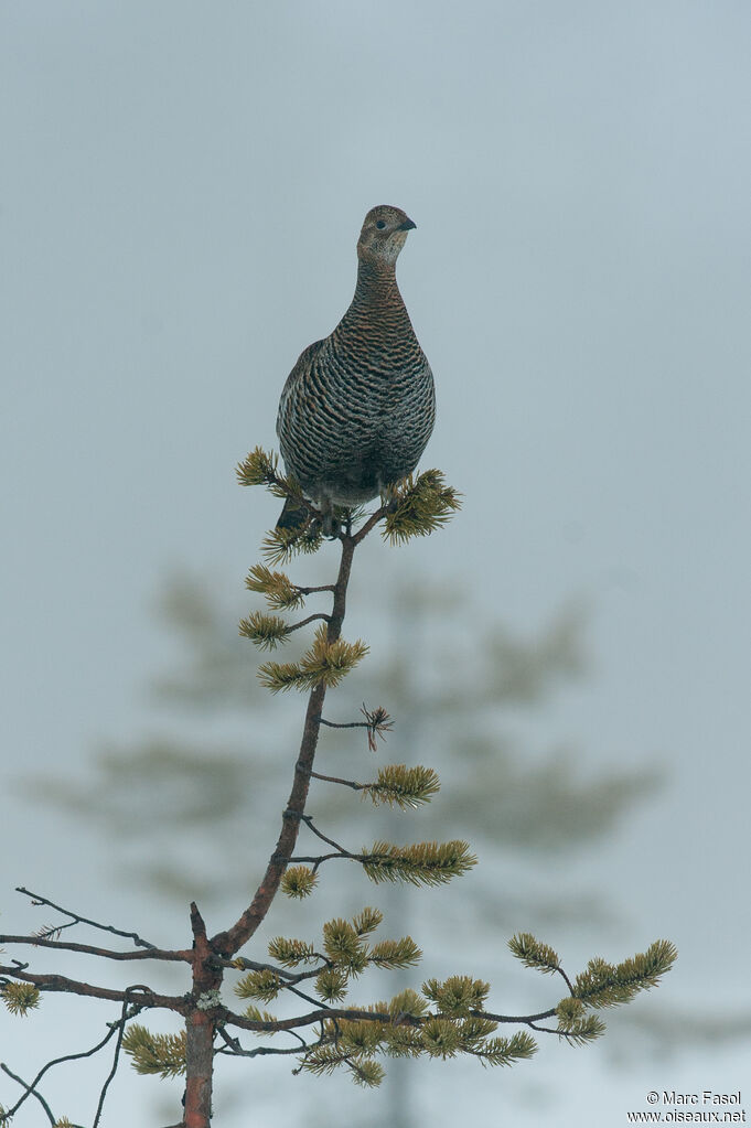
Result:
{"label": "sharply focused pine with reddish trunk and yellow-green needles under the bird", "polygon": [[[298,504],[301,501],[294,483],[277,474],[275,458],[259,449],[241,464],[238,476],[244,485],[265,484],[277,496],[292,496]],[[256,565],[248,576],[248,588],[265,597],[267,610],[251,611],[242,620],[240,631],[262,650],[275,650],[298,629],[312,628],[312,638],[299,659],[267,660],[258,670],[265,688],[272,693],[304,693],[308,704],[279,839],[254,898],[228,928],[210,936],[193,902],[193,944],[189,949],[170,951],[157,948],[135,932],[103,925],[60,908],[46,898],[35,898],[37,904],[60,911],[64,923],[47,926],[34,937],[0,937],[6,944],[34,944],[100,959],[176,962],[189,967],[189,994],[169,996],[143,984],[116,992],[59,975],[37,973],[20,961],[0,966],[0,993],[15,1015],[35,1010],[48,992],[62,990],[118,1003],[120,1016],[109,1023],[108,1033],[90,1052],[115,1040],[111,1076],[121,1050],[131,1057],[140,1073],[162,1077],[184,1073],[182,1123],[186,1128],[207,1128],[213,1064],[219,1052],[236,1057],[289,1055],[297,1059],[298,1070],[326,1075],[343,1069],[356,1084],[364,1086],[380,1083],[383,1059],[389,1058],[445,1060],[461,1055],[475,1057],[484,1065],[512,1065],[534,1054],[537,1042],[532,1032],[554,1033],[573,1045],[599,1037],[604,1028],[599,1014],[593,1012],[628,1003],[639,992],[655,986],[675,959],[672,944],[657,941],[646,952],[619,963],[592,959],[572,978],[553,948],[521,933],[510,941],[512,953],[525,967],[559,977],[565,994],[560,1001],[554,997],[553,1005],[542,1012],[506,1015],[491,1006],[491,985],[465,973],[444,979],[427,978],[419,988],[401,989],[387,999],[365,1003],[351,999],[351,992],[357,988],[360,977],[369,969],[410,969],[423,954],[410,936],[376,938],[382,914],[370,906],[350,918],[332,918],[324,925],[320,936],[276,936],[268,944],[267,958],[262,960],[240,954],[265,922],[277,893],[299,900],[313,896],[324,867],[357,866],[376,885],[397,882],[407,887],[430,887],[461,876],[477,862],[468,843],[459,838],[398,845],[371,835],[362,845],[345,846],[325,832],[306,810],[313,778],[333,787],[360,792],[377,808],[390,803],[412,809],[430,802],[435,795],[439,781],[428,767],[390,765],[374,779],[356,781],[324,775],[316,770],[315,763],[321,726],[342,724],[323,715],[327,694],[368,654],[368,646],[362,641],[347,642],[342,634],[356,548],[379,526],[385,539],[392,545],[430,535],[444,526],[458,506],[458,496],[445,485],[442,475],[428,470],[391,491],[370,515],[335,509],[333,527],[337,531],[334,536],[341,543],[338,574],[333,583],[315,588],[298,585],[276,569],[288,564],[295,554],[317,550],[321,543],[323,514],[310,506],[309,518],[294,529],[277,528],[268,535],[264,544],[266,563]],[[300,611],[310,597],[320,600],[326,596],[330,598],[329,610],[316,610],[298,622],[289,622],[277,614]],[[364,707],[363,720],[347,722],[346,726],[364,729],[372,747],[388,731],[389,724],[388,714],[379,706]],[[299,843],[303,832],[302,849],[308,847],[317,853],[301,852]],[[61,938],[63,929],[71,926],[106,931],[129,940],[130,946],[109,950]],[[235,994],[247,1002],[242,1012],[230,1007],[221,993],[224,980],[235,972],[241,972],[235,982]],[[306,1013],[279,1013],[279,1008],[299,1011],[300,999],[308,1006]],[[276,1013],[265,1010],[266,1004],[274,1006]],[[154,1010],[180,1015],[184,1036],[156,1033],[133,1021],[142,1012]],[[516,1029],[509,1036],[497,1033],[500,1028],[507,1026]],[[255,1049],[246,1048],[240,1041],[242,1031],[260,1037],[264,1042]],[[291,1037],[292,1041],[283,1046],[266,1045],[265,1039],[274,1034]],[[0,1122],[7,1122],[29,1095],[45,1103],[37,1090],[39,1079],[41,1075],[28,1085],[21,1082],[24,1095],[12,1108],[0,1113]],[[107,1084],[108,1081],[99,1096],[95,1128],[100,1120]],[[45,1108],[48,1110],[48,1105]],[[52,1120],[51,1113],[50,1118]]]}

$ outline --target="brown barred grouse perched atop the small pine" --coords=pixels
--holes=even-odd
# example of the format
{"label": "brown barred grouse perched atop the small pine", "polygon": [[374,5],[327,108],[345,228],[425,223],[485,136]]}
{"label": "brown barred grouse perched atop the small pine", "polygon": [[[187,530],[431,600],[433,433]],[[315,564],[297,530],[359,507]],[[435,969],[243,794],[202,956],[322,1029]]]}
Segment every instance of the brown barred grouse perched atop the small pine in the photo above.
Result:
{"label": "brown barred grouse perched atop the small pine", "polygon": [[[416,223],[380,204],[357,239],[357,282],[327,337],[300,354],[279,405],[284,467],[333,535],[333,506],[383,496],[413,473],[435,422],[435,388],[396,281],[396,261]],[[277,529],[310,518],[288,497]]]}

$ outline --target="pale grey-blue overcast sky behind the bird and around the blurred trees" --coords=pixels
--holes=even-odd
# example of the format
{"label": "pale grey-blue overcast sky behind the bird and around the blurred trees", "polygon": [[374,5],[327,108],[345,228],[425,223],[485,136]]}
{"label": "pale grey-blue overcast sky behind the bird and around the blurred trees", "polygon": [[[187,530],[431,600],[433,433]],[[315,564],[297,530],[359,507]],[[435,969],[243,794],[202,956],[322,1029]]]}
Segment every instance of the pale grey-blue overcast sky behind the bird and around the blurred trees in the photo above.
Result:
{"label": "pale grey-blue overcast sky behind the bird and around the blurred trees", "polygon": [[[277,503],[233,465],[275,443],[362,218],[392,203],[438,389],[424,465],[465,508],[426,544],[370,545],[373,572],[471,570],[530,632],[589,601],[597,678],[540,724],[584,772],[670,776],[589,863],[633,925],[602,954],[669,936],[659,997],[748,1011],[727,952],[751,925],[750,55],[733,0],[3,0],[3,777],[85,773],[96,738],[140,730],[168,567],[241,589]],[[3,818],[3,927],[21,882],[117,915],[82,831]],[[515,1123],[625,1123],[652,1087],[742,1087],[748,1046],[619,1074],[598,1055],[551,1041],[483,1075],[478,1114],[539,1070],[548,1103]],[[451,1068],[436,1125],[470,1108]]]}

